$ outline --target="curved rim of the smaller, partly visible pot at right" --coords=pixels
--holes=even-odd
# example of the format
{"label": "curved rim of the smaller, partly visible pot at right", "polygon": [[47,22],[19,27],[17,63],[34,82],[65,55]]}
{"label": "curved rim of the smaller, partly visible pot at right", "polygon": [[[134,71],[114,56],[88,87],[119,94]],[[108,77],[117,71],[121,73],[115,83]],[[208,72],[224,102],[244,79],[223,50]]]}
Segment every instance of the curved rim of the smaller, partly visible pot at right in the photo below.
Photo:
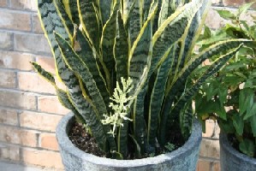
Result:
{"label": "curved rim of the smaller, partly visible pot at right", "polygon": [[241,153],[240,151],[236,150],[231,144],[229,144],[228,136],[226,133],[221,132],[219,135],[219,140],[221,146],[223,147],[223,150],[229,151],[230,154],[232,154],[236,158],[239,158],[242,161],[251,162],[256,165],[255,158]]}

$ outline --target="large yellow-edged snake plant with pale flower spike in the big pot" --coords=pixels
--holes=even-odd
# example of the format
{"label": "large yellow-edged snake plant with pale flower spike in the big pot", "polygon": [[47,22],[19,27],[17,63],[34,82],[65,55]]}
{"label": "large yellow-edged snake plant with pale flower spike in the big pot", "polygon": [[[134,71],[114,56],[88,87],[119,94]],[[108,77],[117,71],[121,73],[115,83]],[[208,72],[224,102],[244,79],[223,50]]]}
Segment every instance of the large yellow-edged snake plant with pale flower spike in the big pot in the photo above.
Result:
{"label": "large yellow-edged snake plant with pale flower spike in the big pot", "polygon": [[[208,0],[38,0],[56,87],[66,108],[89,127],[98,146],[126,159],[154,154],[168,134],[192,127],[192,97],[247,40],[230,39],[193,55]],[[220,56],[193,83],[205,59]]]}

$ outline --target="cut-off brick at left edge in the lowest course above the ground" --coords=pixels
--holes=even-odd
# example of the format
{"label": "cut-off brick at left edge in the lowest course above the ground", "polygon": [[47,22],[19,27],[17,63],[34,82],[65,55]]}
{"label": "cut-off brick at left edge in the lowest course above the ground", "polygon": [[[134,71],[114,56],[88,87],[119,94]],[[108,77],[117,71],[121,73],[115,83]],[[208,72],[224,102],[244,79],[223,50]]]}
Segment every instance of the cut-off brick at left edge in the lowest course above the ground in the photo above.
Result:
{"label": "cut-off brick at left edge in the lowest course above the ground", "polygon": [[10,144],[0,144],[0,159],[20,161],[20,148]]}

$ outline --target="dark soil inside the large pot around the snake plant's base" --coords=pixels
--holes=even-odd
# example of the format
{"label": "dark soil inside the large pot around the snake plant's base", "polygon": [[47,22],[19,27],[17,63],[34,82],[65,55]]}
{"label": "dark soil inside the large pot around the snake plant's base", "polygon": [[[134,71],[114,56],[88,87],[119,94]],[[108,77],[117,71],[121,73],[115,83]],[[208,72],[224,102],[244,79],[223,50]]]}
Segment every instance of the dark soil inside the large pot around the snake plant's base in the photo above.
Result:
{"label": "dark soil inside the large pot around the snake plant's base", "polygon": [[[173,150],[178,149],[185,142],[182,139],[181,133],[177,133],[176,131],[168,133],[168,137],[171,138],[171,139],[168,139],[169,142],[171,144],[174,144],[175,146]],[[68,138],[72,141],[72,143],[76,147],[78,147],[80,150],[85,151],[86,153],[90,153],[95,156],[110,157],[109,154],[105,154],[104,151],[99,149],[98,144],[96,143],[96,140],[91,136],[91,134],[86,133],[86,129],[80,123],[77,123],[77,122],[74,123],[74,127],[72,127],[72,129],[69,131]],[[166,151],[167,149],[158,147],[155,151],[155,156],[163,154]],[[140,158],[146,158],[149,156],[150,154],[145,154],[143,156],[140,156]],[[138,159],[138,157],[135,157],[133,154],[130,154],[126,159]]]}

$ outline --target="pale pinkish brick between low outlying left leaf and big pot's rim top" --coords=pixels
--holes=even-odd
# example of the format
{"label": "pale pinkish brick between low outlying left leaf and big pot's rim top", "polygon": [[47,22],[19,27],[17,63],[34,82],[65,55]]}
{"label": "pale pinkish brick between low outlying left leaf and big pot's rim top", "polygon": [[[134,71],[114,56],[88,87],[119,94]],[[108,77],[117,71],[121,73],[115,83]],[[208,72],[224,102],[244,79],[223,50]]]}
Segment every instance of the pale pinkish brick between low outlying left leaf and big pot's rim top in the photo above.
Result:
{"label": "pale pinkish brick between low outlying left leaf and big pot's rim top", "polygon": [[66,115],[69,112],[69,110],[64,108],[55,96],[39,97],[39,111],[60,115]]}

